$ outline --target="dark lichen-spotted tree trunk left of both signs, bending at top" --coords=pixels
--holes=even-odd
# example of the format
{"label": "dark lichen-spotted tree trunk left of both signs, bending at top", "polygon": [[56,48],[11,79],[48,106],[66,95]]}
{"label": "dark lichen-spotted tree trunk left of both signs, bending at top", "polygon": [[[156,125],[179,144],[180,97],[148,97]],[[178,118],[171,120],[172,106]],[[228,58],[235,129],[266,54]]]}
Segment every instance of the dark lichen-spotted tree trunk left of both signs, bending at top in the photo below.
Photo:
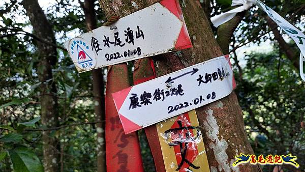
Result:
{"label": "dark lichen-spotted tree trunk left of both signs, bending at top", "polygon": [[[33,30],[39,38],[56,44],[52,26],[48,22],[44,12],[37,0],[24,0],[22,4],[27,16],[33,25]],[[38,66],[38,76],[40,82],[40,103],[41,103],[41,123],[46,127],[56,127],[58,125],[58,111],[55,82],[52,80],[52,68],[57,63],[56,47],[37,42],[40,62]],[[59,142],[55,137],[50,136],[51,131],[44,131],[43,140],[43,164],[44,170],[48,172],[59,171]]]}

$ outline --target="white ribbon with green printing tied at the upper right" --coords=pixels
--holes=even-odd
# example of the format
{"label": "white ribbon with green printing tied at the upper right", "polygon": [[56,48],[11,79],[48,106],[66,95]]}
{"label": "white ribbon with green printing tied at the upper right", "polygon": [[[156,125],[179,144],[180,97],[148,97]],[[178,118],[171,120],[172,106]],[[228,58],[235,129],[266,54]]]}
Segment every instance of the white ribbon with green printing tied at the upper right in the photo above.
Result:
{"label": "white ribbon with green printing tied at the upper right", "polygon": [[287,20],[285,20],[282,16],[280,16],[277,12],[273,11],[271,8],[266,6],[264,3],[258,0],[233,0],[232,6],[242,5],[228,12],[222,13],[220,15],[211,17],[211,22],[215,27],[231,20],[236,16],[237,13],[250,9],[253,5],[258,6],[262,9],[267,15],[275,21],[296,43],[298,48],[300,49],[300,76],[305,81],[305,35],[299,31],[295,26],[290,24]]}

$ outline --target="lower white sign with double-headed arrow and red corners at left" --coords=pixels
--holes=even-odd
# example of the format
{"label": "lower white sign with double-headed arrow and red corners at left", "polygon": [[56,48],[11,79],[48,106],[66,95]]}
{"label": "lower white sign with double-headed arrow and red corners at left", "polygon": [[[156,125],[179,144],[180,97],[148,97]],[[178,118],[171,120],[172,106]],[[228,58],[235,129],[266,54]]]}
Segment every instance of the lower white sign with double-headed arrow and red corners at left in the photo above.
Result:
{"label": "lower white sign with double-headed arrow and red corners at left", "polygon": [[113,93],[125,133],[228,96],[236,87],[229,61],[221,56]]}

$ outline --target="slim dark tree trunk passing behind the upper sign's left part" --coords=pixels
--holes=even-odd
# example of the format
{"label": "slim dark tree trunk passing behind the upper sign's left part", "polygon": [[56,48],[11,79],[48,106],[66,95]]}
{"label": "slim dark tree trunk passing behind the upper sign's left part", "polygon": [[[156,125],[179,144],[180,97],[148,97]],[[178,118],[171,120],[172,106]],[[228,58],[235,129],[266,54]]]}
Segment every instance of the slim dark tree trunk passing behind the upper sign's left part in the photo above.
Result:
{"label": "slim dark tree trunk passing behind the upper sign's left part", "polygon": [[[87,31],[97,28],[96,12],[94,3],[96,0],[87,0],[82,5],[85,14]],[[94,69],[93,76],[93,95],[95,104],[95,114],[97,121],[105,120],[105,99],[104,99],[104,78],[102,68]],[[97,164],[98,172],[106,171],[106,147],[105,147],[105,123],[97,123]]]}

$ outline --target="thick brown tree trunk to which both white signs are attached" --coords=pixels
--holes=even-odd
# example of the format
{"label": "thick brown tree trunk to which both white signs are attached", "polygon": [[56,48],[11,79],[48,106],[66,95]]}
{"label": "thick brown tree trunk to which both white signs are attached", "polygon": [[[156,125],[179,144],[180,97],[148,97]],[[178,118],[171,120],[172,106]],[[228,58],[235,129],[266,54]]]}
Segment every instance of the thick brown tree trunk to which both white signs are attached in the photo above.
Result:
{"label": "thick brown tree trunk to which both white signs are attached", "polygon": [[[100,1],[101,7],[109,17],[126,16],[158,1],[119,0]],[[136,5],[135,5],[136,4]],[[155,56],[157,75],[195,65],[222,55],[222,51],[212,34],[209,20],[205,16],[199,1],[180,1],[186,24],[192,38],[193,48],[178,53],[166,53]],[[243,164],[233,167],[235,155],[253,154],[245,132],[242,111],[235,93],[214,103],[196,109],[210,170],[214,171],[261,171],[259,166]]]}

